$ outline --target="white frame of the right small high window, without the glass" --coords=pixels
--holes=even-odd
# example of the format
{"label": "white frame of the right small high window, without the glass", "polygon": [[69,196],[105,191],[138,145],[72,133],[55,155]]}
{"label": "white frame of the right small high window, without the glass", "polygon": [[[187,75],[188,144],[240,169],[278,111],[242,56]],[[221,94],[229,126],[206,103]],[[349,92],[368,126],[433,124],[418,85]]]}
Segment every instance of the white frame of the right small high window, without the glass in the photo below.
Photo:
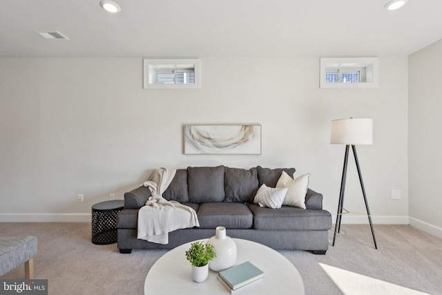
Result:
{"label": "white frame of the right small high window, without the glass", "polygon": [[[326,83],[325,74],[330,71],[361,71],[359,83]],[[321,57],[320,88],[378,88],[378,57]]]}

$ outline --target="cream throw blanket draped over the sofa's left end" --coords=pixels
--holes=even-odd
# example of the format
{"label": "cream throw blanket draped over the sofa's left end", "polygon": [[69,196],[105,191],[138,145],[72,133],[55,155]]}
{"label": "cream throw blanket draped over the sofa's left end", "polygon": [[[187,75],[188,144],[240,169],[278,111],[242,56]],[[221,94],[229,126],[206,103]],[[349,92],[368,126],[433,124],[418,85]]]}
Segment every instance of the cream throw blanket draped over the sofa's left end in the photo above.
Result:
{"label": "cream throw blanket draped over the sofa's left end", "polygon": [[191,207],[176,201],[168,201],[162,197],[175,177],[175,169],[155,169],[143,183],[151,190],[146,206],[138,213],[137,238],[156,242],[169,243],[169,232],[186,227],[199,227],[198,217]]}

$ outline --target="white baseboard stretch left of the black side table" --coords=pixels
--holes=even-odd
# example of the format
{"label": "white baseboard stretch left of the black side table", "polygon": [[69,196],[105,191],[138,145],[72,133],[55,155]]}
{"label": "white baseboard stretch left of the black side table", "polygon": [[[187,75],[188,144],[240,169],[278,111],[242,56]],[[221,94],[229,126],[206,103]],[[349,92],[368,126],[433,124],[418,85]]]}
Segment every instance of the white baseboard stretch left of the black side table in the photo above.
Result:
{"label": "white baseboard stretch left of the black side table", "polygon": [[0,213],[0,222],[91,222],[91,213]]}

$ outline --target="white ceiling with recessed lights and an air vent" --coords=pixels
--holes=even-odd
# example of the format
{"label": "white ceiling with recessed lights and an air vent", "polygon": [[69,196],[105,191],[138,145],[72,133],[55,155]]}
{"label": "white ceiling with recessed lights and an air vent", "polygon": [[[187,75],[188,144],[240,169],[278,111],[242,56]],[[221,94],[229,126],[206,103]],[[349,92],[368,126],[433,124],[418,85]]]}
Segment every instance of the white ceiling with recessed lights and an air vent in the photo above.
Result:
{"label": "white ceiling with recessed lights and an air vent", "polygon": [[409,55],[442,39],[442,0],[114,1],[116,15],[99,0],[1,0],[0,57]]}

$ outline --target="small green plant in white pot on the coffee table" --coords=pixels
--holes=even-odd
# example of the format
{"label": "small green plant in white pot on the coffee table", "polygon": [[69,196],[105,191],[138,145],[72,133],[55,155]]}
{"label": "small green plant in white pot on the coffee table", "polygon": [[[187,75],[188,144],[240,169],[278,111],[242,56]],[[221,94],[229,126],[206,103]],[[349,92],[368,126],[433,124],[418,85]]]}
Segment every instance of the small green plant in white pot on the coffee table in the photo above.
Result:
{"label": "small green plant in white pot on the coffee table", "polygon": [[186,258],[192,265],[192,278],[195,282],[204,282],[209,276],[209,261],[216,257],[213,245],[197,241],[191,243],[186,251]]}

